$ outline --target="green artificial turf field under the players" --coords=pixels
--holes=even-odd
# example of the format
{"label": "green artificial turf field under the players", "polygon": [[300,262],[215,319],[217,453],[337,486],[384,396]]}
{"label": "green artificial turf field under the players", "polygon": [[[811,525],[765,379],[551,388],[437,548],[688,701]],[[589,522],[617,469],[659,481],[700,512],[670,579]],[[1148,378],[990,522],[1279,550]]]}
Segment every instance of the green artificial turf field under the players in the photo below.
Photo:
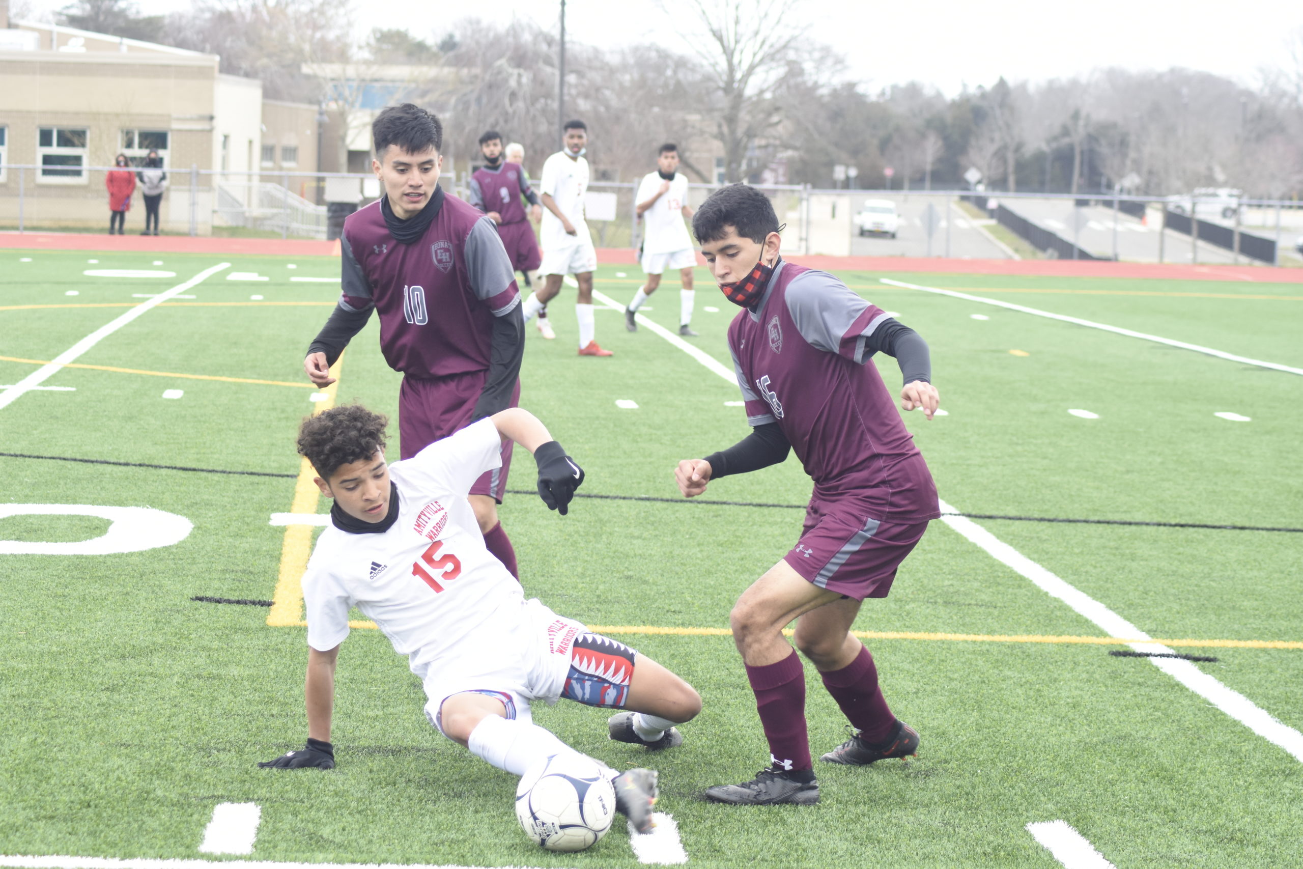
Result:
{"label": "green artificial turf field under the players", "polygon": [[[0,384],[218,262],[0,251]],[[337,276],[339,261],[228,262],[184,291],[194,298],[145,311],[76,360],[99,367],[64,367],[42,384],[66,388],[0,408],[5,453],[279,474],[0,456],[0,511],[151,507],[194,525],[179,543],[130,554],[0,554],[0,853],[195,859],[216,804],[257,803],[250,860],[640,865],[622,823],[584,853],[532,846],[511,809],[513,778],[430,728],[420,684],[375,631],[354,631],[340,654],[337,769],[257,769],[305,736],[305,632],[268,627],[265,607],[192,598],[275,593],[285,529],[268,519],[291,509],[296,426],[318,406],[300,363],[337,294],[291,278]],[[176,276],[83,275],[96,268]],[[1303,367],[1298,285],[843,275],[932,347],[949,416],[906,422],[955,509],[1303,528],[1303,377],[890,288],[882,276]],[[624,304],[637,272],[603,267],[595,285]],[[704,270],[698,288],[692,341],[727,363],[735,309]],[[676,289],[667,281],[646,317],[676,326]],[[615,356],[576,357],[572,298],[564,289],[552,305],[556,341],[528,330],[521,404],[584,465],[582,494],[670,500],[577,499],[559,517],[534,496],[508,498],[502,516],[526,593],[592,625],[724,628],[736,595],[794,545],[808,478],[790,459],[718,481],[701,502],[675,500],[679,459],[747,433],[743,410],[726,404],[736,387],[648,328],[627,334],[615,310],[597,314]],[[880,366],[898,386],[894,361]],[[373,319],[343,360],[337,399],[395,414],[397,384]],[[163,397],[172,390],[184,393]],[[528,456],[513,472],[512,490],[533,487]],[[1192,667],[1303,739],[1303,649],[1213,642],[1303,641],[1303,534],[975,521],[1149,636],[1208,641],[1174,649],[1216,657]],[[107,528],[93,516],[12,515],[0,517],[0,547]],[[941,521],[856,628],[1109,636]],[[818,770],[818,806],[737,809],[697,796],[767,758],[730,638],[616,636],[705,701],[684,745],[653,760],[658,809],[676,819],[689,865],[1050,868],[1025,826],[1062,819],[1119,869],[1303,866],[1303,761],[1151,661],[1108,654],[1124,646],[866,640],[889,702],[923,736],[919,757]],[[843,719],[812,666],[807,677],[817,756],[844,739]],[[599,710],[560,704],[536,720],[612,766],[648,762],[607,741]]]}

